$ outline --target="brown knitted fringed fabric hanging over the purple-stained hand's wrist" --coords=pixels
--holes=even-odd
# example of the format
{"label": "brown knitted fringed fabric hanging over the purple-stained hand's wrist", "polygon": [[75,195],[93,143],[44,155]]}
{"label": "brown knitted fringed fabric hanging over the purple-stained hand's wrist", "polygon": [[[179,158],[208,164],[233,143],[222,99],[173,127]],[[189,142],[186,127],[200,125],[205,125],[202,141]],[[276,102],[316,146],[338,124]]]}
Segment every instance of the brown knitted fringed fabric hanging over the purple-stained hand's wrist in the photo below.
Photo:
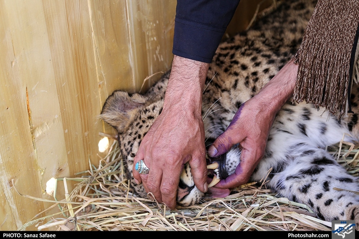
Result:
{"label": "brown knitted fringed fabric hanging over the purple-stained hand's wrist", "polygon": [[299,64],[295,101],[312,102],[333,114],[348,112],[351,83],[359,74],[358,26],[359,0],[318,0],[294,56]]}

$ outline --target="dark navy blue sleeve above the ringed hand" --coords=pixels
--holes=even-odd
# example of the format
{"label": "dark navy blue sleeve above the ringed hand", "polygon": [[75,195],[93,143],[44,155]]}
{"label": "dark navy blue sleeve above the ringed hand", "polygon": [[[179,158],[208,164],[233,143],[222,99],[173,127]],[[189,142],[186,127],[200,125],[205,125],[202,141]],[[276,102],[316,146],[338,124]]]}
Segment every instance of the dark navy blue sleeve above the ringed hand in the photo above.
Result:
{"label": "dark navy blue sleeve above the ringed hand", "polygon": [[172,53],[210,63],[239,0],[177,0]]}

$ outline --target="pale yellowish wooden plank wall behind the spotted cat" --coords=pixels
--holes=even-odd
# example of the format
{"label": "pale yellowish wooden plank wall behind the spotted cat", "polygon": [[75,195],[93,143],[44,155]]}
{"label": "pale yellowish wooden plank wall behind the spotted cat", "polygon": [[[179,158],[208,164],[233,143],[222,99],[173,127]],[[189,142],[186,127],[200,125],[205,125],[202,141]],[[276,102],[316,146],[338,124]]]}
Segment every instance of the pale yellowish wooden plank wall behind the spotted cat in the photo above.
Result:
{"label": "pale yellowish wooden plank wall behind the spotted cat", "polygon": [[[247,5],[253,13],[259,1],[242,1],[245,14],[237,14],[244,24],[251,19]],[[104,100],[115,89],[138,91],[144,78],[170,67],[175,6],[175,0],[0,1],[0,230],[16,230],[51,205],[15,188],[53,200],[45,192],[50,178],[75,177],[89,161],[98,164],[98,133],[111,130],[97,118]]]}

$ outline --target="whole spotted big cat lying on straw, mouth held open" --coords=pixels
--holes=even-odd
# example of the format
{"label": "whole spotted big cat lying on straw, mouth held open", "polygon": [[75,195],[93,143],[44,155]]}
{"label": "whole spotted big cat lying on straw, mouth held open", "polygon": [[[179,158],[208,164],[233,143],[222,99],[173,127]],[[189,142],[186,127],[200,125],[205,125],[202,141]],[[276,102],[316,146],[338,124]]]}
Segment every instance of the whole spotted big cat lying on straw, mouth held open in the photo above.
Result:
{"label": "whole spotted big cat lying on straw, mouth held open", "polygon": [[[256,95],[297,52],[315,4],[313,0],[284,1],[250,30],[219,45],[202,98],[208,140],[223,133],[238,108]],[[142,138],[162,111],[169,74],[165,73],[144,95],[113,92],[101,114],[102,119],[118,131],[127,177],[141,197],[147,193],[132,180],[133,159]],[[343,135],[349,142],[359,139],[356,88],[353,87],[351,97],[354,113],[341,120],[314,105],[289,100],[276,115],[265,155],[251,181],[261,180],[272,169],[268,186],[278,197],[307,204],[323,220],[355,220],[358,226],[359,195],[350,192],[359,191],[358,180],[325,150],[327,145],[339,142]],[[236,145],[221,157],[216,170],[219,177],[234,172],[240,163],[240,153]],[[178,204],[193,205],[204,196],[195,187],[186,164],[180,178]]]}

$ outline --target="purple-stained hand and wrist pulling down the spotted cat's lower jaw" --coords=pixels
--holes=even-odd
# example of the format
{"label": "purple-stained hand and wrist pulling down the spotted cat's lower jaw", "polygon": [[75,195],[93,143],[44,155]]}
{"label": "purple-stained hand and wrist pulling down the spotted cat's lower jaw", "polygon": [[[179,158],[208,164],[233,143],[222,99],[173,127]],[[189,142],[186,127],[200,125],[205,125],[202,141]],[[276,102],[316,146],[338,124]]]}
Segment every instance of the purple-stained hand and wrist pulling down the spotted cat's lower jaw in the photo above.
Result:
{"label": "purple-stained hand and wrist pulling down the spotted cat's lower jaw", "polygon": [[242,147],[235,173],[215,187],[233,188],[249,180],[264,155],[275,115],[293,95],[297,71],[293,61],[287,63],[257,95],[242,104],[225,132],[211,145],[210,157],[224,154],[237,143]]}

